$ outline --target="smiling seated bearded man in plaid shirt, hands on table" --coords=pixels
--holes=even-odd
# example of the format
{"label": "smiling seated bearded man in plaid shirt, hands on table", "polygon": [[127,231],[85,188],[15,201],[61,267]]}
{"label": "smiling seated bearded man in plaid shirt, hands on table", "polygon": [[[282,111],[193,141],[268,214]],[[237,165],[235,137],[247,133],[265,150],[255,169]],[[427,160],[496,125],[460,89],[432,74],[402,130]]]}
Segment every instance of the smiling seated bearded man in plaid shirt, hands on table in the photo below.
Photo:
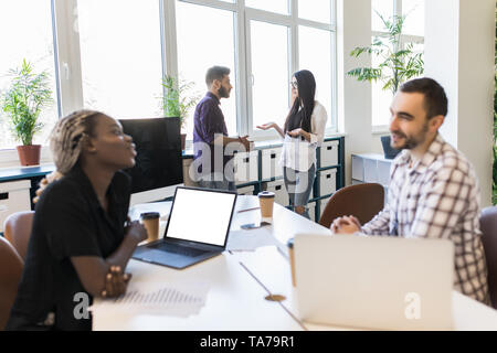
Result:
{"label": "smiling seated bearded man in plaid shirt, hands on table", "polygon": [[451,239],[454,288],[489,303],[478,181],[470,162],[438,133],[447,115],[443,87],[431,78],[412,79],[396,93],[390,113],[391,145],[403,151],[392,163],[388,203],[362,227],[345,216],[334,221],[331,232]]}

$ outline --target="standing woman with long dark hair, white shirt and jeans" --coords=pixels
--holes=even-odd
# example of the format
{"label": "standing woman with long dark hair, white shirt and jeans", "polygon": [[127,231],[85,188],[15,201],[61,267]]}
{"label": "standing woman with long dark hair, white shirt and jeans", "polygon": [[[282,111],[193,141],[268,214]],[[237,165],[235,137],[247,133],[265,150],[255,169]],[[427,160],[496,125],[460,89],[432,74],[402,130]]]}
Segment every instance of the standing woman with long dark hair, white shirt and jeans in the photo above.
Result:
{"label": "standing woman with long dark hair, white shirt and jeans", "polygon": [[303,69],[292,77],[292,108],[283,129],[275,122],[257,128],[274,128],[284,139],[281,163],[290,206],[309,218],[306,207],[316,178],[316,147],[325,137],[327,113],[317,100],[316,81],[311,72]]}

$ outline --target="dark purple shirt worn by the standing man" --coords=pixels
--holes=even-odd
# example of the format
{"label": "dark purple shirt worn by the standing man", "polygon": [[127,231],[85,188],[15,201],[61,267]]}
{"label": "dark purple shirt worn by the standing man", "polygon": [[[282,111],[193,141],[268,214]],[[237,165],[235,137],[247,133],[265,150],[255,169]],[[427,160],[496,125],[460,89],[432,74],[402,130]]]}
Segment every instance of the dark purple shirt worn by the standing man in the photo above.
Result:
{"label": "dark purple shirt worn by the standing man", "polygon": [[[202,159],[202,164],[211,163],[212,171],[214,171],[213,142],[215,135],[222,133],[223,136],[228,136],[226,122],[224,121],[224,115],[219,105],[219,98],[208,92],[205,97],[197,105],[193,116],[193,159]],[[199,148],[199,142],[210,145],[211,153],[203,156]],[[221,153],[221,150],[219,153]],[[224,154],[224,151],[222,153]],[[230,156],[223,156],[223,168],[230,160]],[[202,172],[202,168],[199,168],[199,172]]]}

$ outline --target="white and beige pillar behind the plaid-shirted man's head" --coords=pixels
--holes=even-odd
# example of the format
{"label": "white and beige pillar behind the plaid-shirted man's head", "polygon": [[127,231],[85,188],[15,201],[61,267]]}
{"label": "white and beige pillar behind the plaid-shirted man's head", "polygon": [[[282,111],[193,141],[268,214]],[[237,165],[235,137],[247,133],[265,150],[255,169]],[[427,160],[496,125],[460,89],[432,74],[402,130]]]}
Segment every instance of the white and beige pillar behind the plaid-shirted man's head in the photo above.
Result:
{"label": "white and beige pillar behind the plaid-shirted man's head", "polygon": [[446,90],[442,136],[476,169],[491,204],[495,0],[425,1],[425,76]]}

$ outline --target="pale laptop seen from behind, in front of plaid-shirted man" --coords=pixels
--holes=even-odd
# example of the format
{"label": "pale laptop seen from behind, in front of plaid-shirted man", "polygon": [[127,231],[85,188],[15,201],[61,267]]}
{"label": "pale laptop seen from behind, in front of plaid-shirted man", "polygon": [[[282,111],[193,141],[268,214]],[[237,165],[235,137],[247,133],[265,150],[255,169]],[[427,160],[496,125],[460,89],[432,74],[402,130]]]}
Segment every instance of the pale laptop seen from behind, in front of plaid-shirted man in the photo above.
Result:
{"label": "pale laptop seen from behind, in front of plaid-shirted man", "polygon": [[299,234],[294,249],[303,321],[382,330],[452,329],[452,242]]}

